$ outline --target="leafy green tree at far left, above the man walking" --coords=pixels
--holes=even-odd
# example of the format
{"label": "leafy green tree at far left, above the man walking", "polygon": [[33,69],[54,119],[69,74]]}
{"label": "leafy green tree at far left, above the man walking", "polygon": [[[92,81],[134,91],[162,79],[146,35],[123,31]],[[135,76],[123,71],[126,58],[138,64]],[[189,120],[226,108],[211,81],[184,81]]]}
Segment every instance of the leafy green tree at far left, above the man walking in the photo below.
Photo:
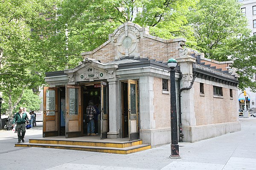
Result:
{"label": "leafy green tree at far left, above the man walking", "polygon": [[[44,82],[41,66],[44,58],[37,56],[31,28],[42,23],[53,3],[51,0],[1,0],[0,6],[0,91],[8,97],[9,111],[17,105],[24,88],[36,87]],[[37,46],[38,47],[38,46]],[[47,67],[43,67],[47,68]],[[44,73],[44,72],[43,72]]]}

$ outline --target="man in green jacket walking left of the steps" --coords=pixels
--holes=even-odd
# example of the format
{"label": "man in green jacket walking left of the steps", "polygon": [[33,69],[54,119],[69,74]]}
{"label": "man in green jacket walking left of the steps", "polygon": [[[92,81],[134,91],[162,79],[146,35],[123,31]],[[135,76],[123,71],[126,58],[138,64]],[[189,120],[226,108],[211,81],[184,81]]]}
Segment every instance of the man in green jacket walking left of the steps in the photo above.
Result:
{"label": "man in green jacket walking left of the steps", "polygon": [[[29,120],[26,113],[23,112],[23,107],[20,107],[19,109],[20,109],[20,111],[14,115],[14,119],[12,122],[13,127],[14,127],[15,123],[17,123],[16,128],[18,131],[18,143],[20,143],[20,140],[22,142],[25,142],[24,141],[24,136],[26,133],[26,124],[25,123],[28,122],[28,120]],[[20,135],[20,132],[21,132],[21,135]]]}

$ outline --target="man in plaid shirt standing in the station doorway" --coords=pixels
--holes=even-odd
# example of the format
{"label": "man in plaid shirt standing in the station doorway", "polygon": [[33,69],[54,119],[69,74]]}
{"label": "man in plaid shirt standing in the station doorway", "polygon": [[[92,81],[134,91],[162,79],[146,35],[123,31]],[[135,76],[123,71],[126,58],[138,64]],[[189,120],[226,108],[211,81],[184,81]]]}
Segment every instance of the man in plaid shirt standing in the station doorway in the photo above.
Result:
{"label": "man in plaid shirt standing in the station doorway", "polygon": [[96,110],[95,108],[93,107],[93,101],[90,100],[89,101],[89,105],[87,106],[86,108],[86,113],[87,113],[87,116],[89,117],[89,122],[87,124],[87,135],[88,136],[95,136],[96,134],[94,133],[94,114],[96,114]]}

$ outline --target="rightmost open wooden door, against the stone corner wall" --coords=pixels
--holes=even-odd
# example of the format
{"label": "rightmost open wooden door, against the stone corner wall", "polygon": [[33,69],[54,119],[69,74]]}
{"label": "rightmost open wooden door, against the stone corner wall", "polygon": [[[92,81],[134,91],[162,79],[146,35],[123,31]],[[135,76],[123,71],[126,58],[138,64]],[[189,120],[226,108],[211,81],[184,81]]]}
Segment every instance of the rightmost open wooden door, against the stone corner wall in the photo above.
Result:
{"label": "rightmost open wooden door, against the stone corner wall", "polygon": [[128,114],[129,114],[129,140],[139,139],[138,122],[138,83],[136,80],[128,80]]}

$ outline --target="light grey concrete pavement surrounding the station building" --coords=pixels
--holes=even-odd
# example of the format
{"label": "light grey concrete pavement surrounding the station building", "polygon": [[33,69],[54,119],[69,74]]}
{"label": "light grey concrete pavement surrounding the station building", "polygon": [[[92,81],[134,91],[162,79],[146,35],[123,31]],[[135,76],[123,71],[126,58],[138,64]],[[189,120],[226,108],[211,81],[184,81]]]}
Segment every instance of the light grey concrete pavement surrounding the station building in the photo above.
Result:
{"label": "light grey concrete pavement surrounding the station building", "polygon": [[[17,133],[1,131],[0,169],[255,170],[256,117],[239,118],[239,120],[241,122],[241,131],[239,132],[195,143],[179,143],[180,159],[169,158],[170,144],[128,155],[37,147],[14,147],[15,142],[17,142]],[[27,130],[25,140],[41,137],[41,129],[40,125],[38,125],[32,130]],[[24,162],[24,160],[26,161]]]}

